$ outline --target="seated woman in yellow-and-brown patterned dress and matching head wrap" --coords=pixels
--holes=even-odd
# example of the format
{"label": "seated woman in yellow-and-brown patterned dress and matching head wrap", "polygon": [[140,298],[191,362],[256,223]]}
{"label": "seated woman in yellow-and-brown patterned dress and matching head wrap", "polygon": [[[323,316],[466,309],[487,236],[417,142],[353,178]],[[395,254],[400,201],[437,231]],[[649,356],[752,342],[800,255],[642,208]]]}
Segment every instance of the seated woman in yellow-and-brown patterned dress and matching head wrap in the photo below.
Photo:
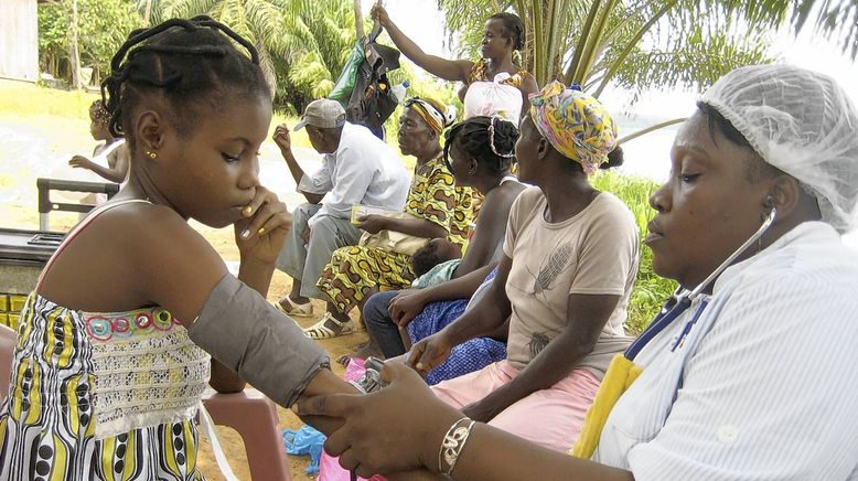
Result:
{"label": "seated woman in yellow-and-brown patterned dress and matching head wrap", "polygon": [[[399,117],[399,149],[417,158],[406,200],[407,216],[371,214],[357,227],[376,234],[387,229],[416,237],[446,237],[464,245],[471,225],[471,190],[455,186],[442,159],[441,131],[452,124],[455,110],[433,99],[410,98]],[[351,246],[334,250],[317,287],[331,301],[328,312],[304,332],[328,339],[351,332],[348,311],[363,304],[378,288],[399,289],[414,280],[410,255],[377,247]]]}

